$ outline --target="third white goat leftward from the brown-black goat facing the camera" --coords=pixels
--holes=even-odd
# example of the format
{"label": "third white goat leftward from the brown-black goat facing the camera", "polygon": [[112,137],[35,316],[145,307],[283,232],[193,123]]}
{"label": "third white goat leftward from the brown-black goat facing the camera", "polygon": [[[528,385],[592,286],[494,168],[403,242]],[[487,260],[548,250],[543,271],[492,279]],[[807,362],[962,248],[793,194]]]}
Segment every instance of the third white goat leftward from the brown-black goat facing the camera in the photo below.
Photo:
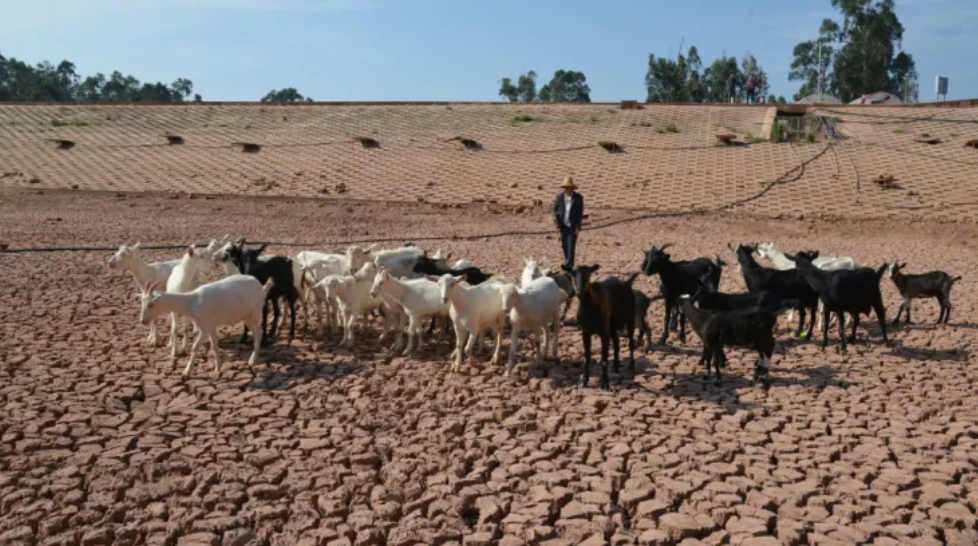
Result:
{"label": "third white goat leftward from the brown-black goat facing the camera", "polygon": [[[381,269],[374,278],[370,295],[393,298],[403,309],[408,321],[408,345],[404,350],[405,355],[414,351],[415,339],[417,339],[417,347],[421,347],[424,331],[421,323],[425,318],[449,316],[449,308],[441,296],[438,283],[426,278],[402,280],[391,275],[389,270]],[[397,345],[395,344],[395,347]]]}

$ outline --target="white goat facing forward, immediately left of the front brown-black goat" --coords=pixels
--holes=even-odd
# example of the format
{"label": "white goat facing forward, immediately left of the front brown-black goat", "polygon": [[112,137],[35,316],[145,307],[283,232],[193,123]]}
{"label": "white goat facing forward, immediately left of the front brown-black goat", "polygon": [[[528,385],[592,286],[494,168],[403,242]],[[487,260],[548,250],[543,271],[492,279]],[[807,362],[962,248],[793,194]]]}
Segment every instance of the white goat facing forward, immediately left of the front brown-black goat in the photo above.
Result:
{"label": "white goat facing forward, immediately left of the front brown-black goat", "polygon": [[[509,344],[509,361],[506,362],[506,375],[513,370],[516,360],[516,346],[521,331],[530,332],[536,353],[536,364],[540,364],[547,352],[547,330],[553,332],[553,358],[557,359],[557,332],[560,330],[560,288],[550,277],[532,279],[522,288],[507,284],[502,289],[503,311],[509,314],[512,325],[512,338]],[[542,339],[537,340],[537,334]]]}

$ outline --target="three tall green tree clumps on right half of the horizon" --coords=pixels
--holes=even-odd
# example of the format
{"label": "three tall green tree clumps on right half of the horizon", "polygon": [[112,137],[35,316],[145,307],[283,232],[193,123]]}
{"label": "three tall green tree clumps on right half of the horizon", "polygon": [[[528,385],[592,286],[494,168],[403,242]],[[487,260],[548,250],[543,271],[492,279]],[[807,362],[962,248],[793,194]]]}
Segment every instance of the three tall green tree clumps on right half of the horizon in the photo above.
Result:
{"label": "three tall green tree clumps on right half of the horizon", "polygon": [[[916,102],[916,66],[913,56],[900,50],[903,25],[894,11],[895,0],[831,1],[842,23],[825,19],[818,38],[794,47],[788,79],[802,83],[793,99],[821,90],[849,102],[863,93],[882,91]],[[787,102],[783,96],[769,94],[767,74],[750,53],[739,63],[724,53],[704,67],[696,46],[675,58],[649,54],[645,88],[645,100],[651,103],[745,102],[750,97]],[[589,102],[589,94],[584,74],[565,70],[558,70],[539,93],[533,71],[519,76],[516,83],[503,78],[499,88],[499,95],[510,102]]]}

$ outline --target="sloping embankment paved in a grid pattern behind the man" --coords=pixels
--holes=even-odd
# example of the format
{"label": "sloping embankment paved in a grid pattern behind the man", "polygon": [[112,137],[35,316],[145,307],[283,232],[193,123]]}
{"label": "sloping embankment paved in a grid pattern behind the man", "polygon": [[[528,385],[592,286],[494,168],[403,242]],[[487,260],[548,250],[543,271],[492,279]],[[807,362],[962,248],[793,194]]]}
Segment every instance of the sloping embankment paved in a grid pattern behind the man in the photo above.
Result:
{"label": "sloping embankment paved in a grid pattern behind the man", "polygon": [[[717,146],[718,133],[760,133],[767,113],[721,105],[6,105],[0,184],[530,205],[549,201],[572,174],[592,207],[686,210],[750,199],[737,210],[978,218],[978,190],[969,186],[978,150],[963,146],[978,138],[978,109],[840,107],[823,113],[853,137],[842,147]],[[678,132],[660,132],[669,125]],[[915,142],[921,133],[945,142]],[[168,145],[167,134],[184,144]],[[609,153],[601,141],[623,151]],[[261,149],[232,145],[241,142]],[[882,173],[904,189],[877,189],[869,180]]]}

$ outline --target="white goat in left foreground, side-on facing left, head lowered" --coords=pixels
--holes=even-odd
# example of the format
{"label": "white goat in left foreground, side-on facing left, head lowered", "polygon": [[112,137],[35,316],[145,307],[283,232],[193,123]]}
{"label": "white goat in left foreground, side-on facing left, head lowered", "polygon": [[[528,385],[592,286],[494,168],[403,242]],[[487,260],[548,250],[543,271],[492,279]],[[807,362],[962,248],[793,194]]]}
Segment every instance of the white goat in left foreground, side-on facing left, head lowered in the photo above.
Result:
{"label": "white goat in left foreground, side-on facing left, head lowered", "polygon": [[197,339],[190,348],[190,360],[183,370],[183,377],[190,373],[197,356],[197,349],[204,336],[214,352],[214,375],[221,371],[221,358],[217,352],[217,327],[245,323],[254,332],[255,347],[248,364],[254,364],[261,347],[261,312],[265,305],[265,292],[261,284],[250,275],[232,275],[205,284],[186,294],[156,292],[158,283],[148,281],[142,292],[140,321],[149,324],[164,313],[189,317],[198,328]]}

